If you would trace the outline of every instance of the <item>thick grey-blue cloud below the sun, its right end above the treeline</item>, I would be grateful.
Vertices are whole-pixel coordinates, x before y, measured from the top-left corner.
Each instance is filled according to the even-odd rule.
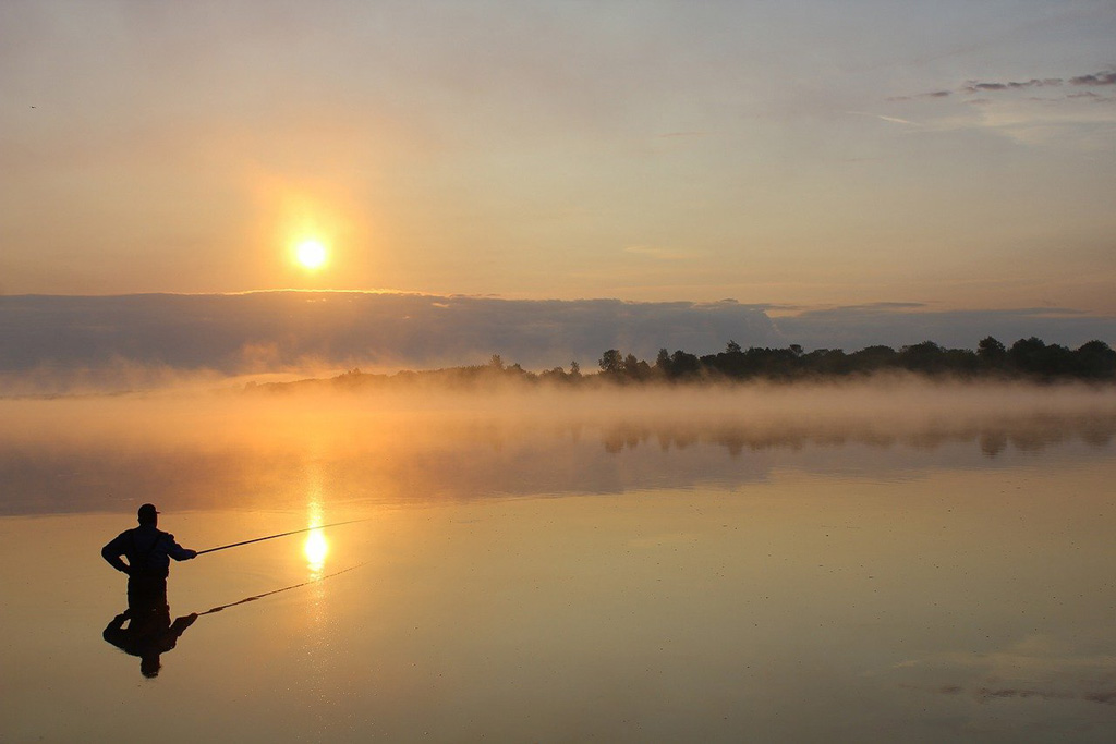
[[[591,368],[609,348],[654,358],[660,347],[719,351],[730,338],[780,340],[761,307],[737,302],[298,291],[0,298],[0,374],[121,360],[224,374],[429,368],[492,354],[528,368],[571,359]]]

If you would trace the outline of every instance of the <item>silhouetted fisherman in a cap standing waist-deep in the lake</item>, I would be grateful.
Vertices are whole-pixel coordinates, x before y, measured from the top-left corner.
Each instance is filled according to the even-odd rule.
[[[150,598],[166,597],[171,559],[186,561],[198,554],[156,526],[158,510],[154,504],[141,506],[136,519],[140,526],[121,532],[100,549],[109,566],[128,574],[128,607],[148,606]],[[127,563],[121,560],[122,555],[128,559]]]

